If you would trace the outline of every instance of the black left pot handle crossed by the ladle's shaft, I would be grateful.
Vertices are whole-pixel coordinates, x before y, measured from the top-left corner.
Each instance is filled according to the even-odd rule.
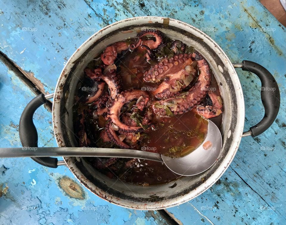
[[[32,99],[24,108],[19,122],[19,136],[23,147],[38,147],[38,132],[33,122],[33,115],[37,108],[52,98],[54,94],[39,94]],[[57,168],[59,165],[65,165],[64,161],[58,161],[52,157],[32,157],[35,162],[47,167]]]

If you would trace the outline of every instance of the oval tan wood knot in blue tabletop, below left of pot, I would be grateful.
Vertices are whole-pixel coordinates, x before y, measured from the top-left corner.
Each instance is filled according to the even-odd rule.
[[[84,199],[85,193],[83,188],[80,187],[75,181],[70,179],[67,176],[64,176],[59,179],[59,186],[63,189],[63,191],[71,198],[76,199]]]

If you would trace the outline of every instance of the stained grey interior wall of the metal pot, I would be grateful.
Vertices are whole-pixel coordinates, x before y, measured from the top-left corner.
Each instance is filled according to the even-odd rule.
[[[223,149],[218,161],[213,167],[200,175],[182,177],[170,184],[141,187],[109,179],[88,165],[84,158],[66,157],[65,160],[71,171],[86,187],[108,201],[116,204],[119,204],[118,202],[120,202],[121,205],[132,208],[141,207],[144,202],[147,202],[148,204],[153,204],[155,208],[155,205],[161,204],[163,208],[172,206],[172,204],[178,204],[178,200],[174,201],[174,199],[179,199],[180,196],[191,194],[192,191],[200,185],[204,185],[204,182],[217,170],[228,153],[233,135],[232,131],[237,125],[237,115],[235,113],[237,111],[237,105],[235,104],[237,99],[231,81],[231,74],[229,74],[226,69],[228,60],[226,58],[221,58],[221,55],[218,55],[217,51],[215,52],[214,49],[211,49],[205,42],[206,39],[198,38],[192,33],[177,27],[164,27],[159,23],[150,23],[121,27],[120,29],[109,33],[109,35],[95,41],[80,58],[73,62],[71,71],[66,75],[66,82],[62,89],[64,93],[63,96],[66,97],[62,98],[60,101],[60,114],[62,115],[61,132],[63,134],[62,138],[63,143],[65,143],[64,145],[77,145],[72,126],[72,105],[74,103],[74,92],[77,83],[79,83],[84,76],[84,68],[95,56],[102,52],[106,46],[125,38],[134,37],[137,32],[142,30],[142,28],[158,29],[170,38],[181,40],[187,45],[193,46],[209,62],[217,82],[220,85],[220,91],[224,102],[223,124],[221,128],[221,133],[223,135]],[[175,183],[176,185],[173,185]],[[207,188],[208,187],[205,187],[205,189]],[[190,199],[193,197],[195,196],[190,196]],[[131,206],[131,203],[134,203],[136,206]]]

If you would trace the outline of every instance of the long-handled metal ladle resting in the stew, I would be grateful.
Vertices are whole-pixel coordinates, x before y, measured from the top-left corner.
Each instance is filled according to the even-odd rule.
[[[208,143],[206,143],[208,142]],[[206,144],[205,144],[206,143]],[[205,145],[204,145],[205,144]],[[148,159],[164,163],[174,173],[193,176],[203,173],[217,161],[222,148],[222,137],[217,126],[209,120],[208,131],[203,143],[186,156],[170,158],[159,153],[117,148],[0,148],[0,158],[44,157],[44,156],[82,156],[82,157],[118,157]]]

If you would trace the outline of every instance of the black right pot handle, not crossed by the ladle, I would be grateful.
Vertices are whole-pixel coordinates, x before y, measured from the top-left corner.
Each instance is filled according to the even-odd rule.
[[[243,137],[249,135],[256,137],[271,126],[278,114],[280,107],[279,88],[271,73],[257,63],[243,60],[242,63],[233,63],[233,66],[234,68],[252,72],[261,80],[261,100],[265,110],[264,117],[255,126],[249,128],[249,131],[243,132],[242,135]]]

